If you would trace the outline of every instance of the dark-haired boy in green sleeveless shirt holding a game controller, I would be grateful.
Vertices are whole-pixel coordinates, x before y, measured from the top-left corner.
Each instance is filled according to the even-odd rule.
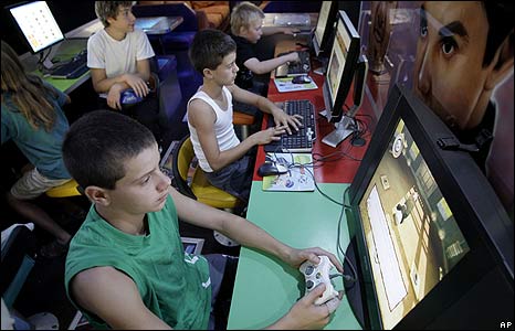
[[[294,267],[327,255],[343,270],[322,248],[286,246],[240,216],[181,195],[159,169],[153,134],[127,116],[108,110],[84,115],[66,135],[63,158],[93,202],[70,245],[65,287],[95,329],[212,328],[214,277],[204,257],[183,252],[178,217]],[[324,290],[324,285],[315,288],[271,327],[324,327],[329,309],[314,305]]]

